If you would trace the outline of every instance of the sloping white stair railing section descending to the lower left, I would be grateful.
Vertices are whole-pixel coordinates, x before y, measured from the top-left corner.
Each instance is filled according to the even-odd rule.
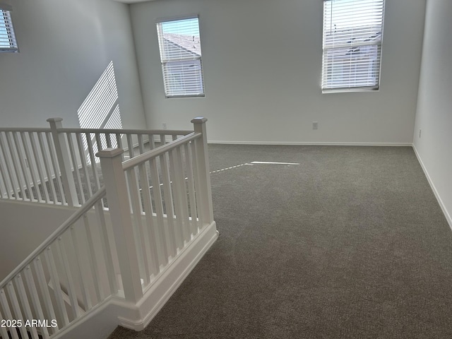
[[[117,293],[104,197],[105,187],[0,283],[1,338],[50,338]]]

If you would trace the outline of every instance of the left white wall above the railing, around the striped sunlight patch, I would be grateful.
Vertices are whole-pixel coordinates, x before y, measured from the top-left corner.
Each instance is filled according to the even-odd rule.
[[[78,126],[77,109],[113,61],[125,128],[145,126],[129,8],[112,0],[0,0],[20,53],[0,54],[0,126]]]

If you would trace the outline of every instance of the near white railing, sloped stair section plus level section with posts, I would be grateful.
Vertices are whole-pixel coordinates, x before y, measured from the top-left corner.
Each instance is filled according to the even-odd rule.
[[[59,338],[112,297],[143,304],[183,262],[215,227],[206,121],[193,119],[193,132],[126,161],[121,148],[97,153],[105,186],[0,283],[1,338]]]

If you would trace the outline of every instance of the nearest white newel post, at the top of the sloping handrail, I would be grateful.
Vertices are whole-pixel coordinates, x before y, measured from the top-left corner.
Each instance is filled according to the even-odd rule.
[[[129,193],[124,169],[122,169],[122,153],[124,150],[120,148],[105,148],[96,156],[100,157],[100,166],[107,190],[108,209],[112,218],[124,297],[127,301],[136,304],[143,297],[143,290],[141,289],[136,244],[133,239]]]

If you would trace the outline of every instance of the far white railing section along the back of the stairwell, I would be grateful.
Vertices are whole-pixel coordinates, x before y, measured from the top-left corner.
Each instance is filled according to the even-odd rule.
[[[61,118],[49,129],[0,129],[0,198],[81,206],[102,185],[97,151],[126,150],[134,157],[190,131],[65,129]]]

